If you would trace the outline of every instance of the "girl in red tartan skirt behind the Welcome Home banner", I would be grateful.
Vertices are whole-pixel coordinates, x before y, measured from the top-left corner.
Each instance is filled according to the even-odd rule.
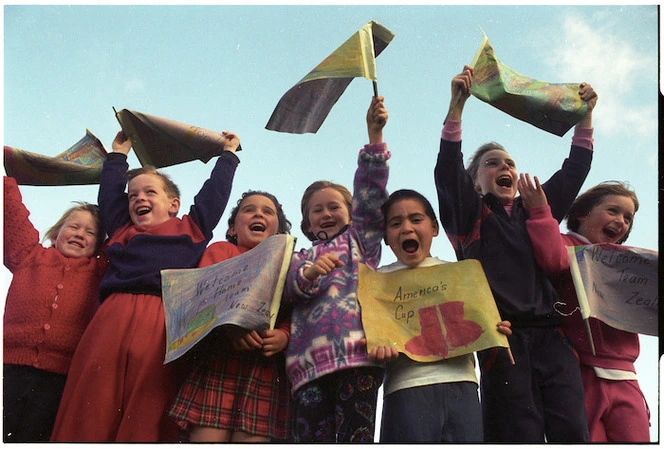
[[[291,223],[272,194],[248,191],[228,226],[228,242],[210,245],[199,266],[240,255],[272,235],[289,234]],[[281,353],[290,322],[284,318],[280,314],[276,328],[261,335],[235,326],[217,328],[193,349],[193,367],[169,412],[182,429],[190,429],[189,441],[290,437],[290,391]]]

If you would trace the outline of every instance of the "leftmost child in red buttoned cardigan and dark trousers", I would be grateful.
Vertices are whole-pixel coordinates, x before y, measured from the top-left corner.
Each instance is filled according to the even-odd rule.
[[[97,206],[77,203],[39,243],[14,178],[4,178],[4,263],[12,272],[3,327],[5,443],[47,442],[72,355],[97,310],[108,266]]]

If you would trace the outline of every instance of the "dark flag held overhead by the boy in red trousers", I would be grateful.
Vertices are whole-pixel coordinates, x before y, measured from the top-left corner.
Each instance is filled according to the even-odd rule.
[[[207,163],[224,150],[219,131],[129,109],[116,111],[115,116],[142,166],[161,168],[196,159]],[[241,150],[239,146],[236,151]]]

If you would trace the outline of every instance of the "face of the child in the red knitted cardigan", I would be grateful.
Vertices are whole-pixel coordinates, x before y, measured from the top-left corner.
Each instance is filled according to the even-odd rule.
[[[97,244],[97,224],[90,212],[69,214],[51,243],[66,257],[92,257]]]

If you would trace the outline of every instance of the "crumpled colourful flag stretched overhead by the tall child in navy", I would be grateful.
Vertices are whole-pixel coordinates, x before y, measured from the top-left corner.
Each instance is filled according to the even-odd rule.
[[[496,57],[486,34],[471,64],[470,93],[514,118],[563,136],[586,114],[580,83],[555,84],[528,78]]]

